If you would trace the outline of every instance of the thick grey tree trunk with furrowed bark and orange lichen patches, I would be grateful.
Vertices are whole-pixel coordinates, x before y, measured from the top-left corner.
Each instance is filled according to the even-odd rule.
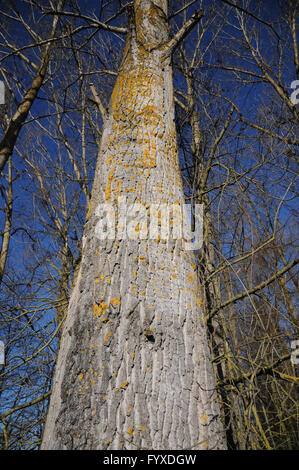
[[[184,202],[167,1],[135,0],[130,16],[42,449],[222,449],[192,252],[95,237],[99,203]]]

